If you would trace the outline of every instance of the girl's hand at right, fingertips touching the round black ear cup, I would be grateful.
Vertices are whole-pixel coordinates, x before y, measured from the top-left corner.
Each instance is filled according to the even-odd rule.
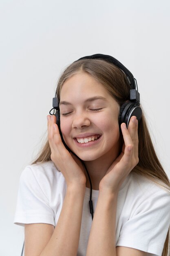
[[[126,124],[121,124],[121,131],[124,137],[124,144],[121,154],[108,168],[106,175],[99,183],[99,191],[118,193],[121,184],[124,182],[130,171],[138,164],[138,121],[132,116],[126,128]]]

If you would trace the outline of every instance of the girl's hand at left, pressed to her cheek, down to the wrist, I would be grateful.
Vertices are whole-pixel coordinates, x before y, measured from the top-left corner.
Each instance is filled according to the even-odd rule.
[[[47,120],[51,160],[64,175],[67,186],[86,186],[84,166],[75,155],[68,152],[62,143],[55,115],[48,115]]]

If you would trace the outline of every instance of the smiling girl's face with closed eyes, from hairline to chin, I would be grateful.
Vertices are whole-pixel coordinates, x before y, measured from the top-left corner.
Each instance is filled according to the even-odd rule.
[[[60,93],[60,127],[68,147],[82,160],[115,155],[119,148],[119,105],[86,73],[68,79]]]

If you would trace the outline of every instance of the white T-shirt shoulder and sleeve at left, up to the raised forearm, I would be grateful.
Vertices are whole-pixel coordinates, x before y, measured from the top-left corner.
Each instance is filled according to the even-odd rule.
[[[14,223],[55,225],[65,191],[64,176],[52,161],[26,166],[20,175]]]

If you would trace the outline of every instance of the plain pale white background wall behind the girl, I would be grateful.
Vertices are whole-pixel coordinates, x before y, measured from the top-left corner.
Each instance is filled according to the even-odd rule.
[[[170,1],[0,1],[0,255],[20,256],[19,177],[42,144],[57,79],[78,58],[108,54],[137,79],[170,177]]]

